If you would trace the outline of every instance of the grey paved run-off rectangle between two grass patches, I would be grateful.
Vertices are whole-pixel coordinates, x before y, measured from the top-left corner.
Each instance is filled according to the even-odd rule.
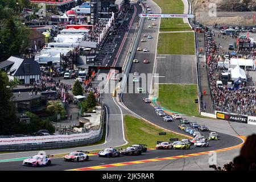
[[[197,84],[194,55],[158,55],[156,60],[160,84]]]

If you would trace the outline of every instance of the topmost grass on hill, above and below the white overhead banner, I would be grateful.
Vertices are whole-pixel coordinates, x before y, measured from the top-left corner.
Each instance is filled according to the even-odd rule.
[[[153,0],[162,10],[162,14],[183,14],[184,5],[181,0]],[[183,23],[182,18],[162,18],[160,31],[191,30],[188,23]]]

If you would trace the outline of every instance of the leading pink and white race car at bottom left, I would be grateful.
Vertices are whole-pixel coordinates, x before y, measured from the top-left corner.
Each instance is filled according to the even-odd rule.
[[[53,155],[51,155],[53,157]],[[49,158],[50,155],[35,155],[31,158],[23,160],[23,166],[50,166],[52,164],[52,160]]]

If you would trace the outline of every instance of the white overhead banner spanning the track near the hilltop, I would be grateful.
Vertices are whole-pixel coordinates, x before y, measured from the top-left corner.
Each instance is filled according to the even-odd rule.
[[[140,18],[195,18],[194,14],[139,14]]]

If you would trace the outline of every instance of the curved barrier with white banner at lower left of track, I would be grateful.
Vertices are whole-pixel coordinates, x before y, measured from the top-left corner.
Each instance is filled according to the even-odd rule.
[[[64,147],[76,147],[76,146],[82,146],[85,144],[91,144],[98,142],[98,140],[101,140],[102,135],[104,134],[104,123],[105,123],[105,104],[102,102],[102,110],[101,110],[101,122],[100,122],[100,129],[98,129],[98,134],[92,135],[89,138],[84,139],[77,139],[77,140],[70,140],[70,141],[60,141],[60,142],[47,142],[47,143],[32,143],[32,144],[0,144],[0,151],[26,151],[26,150],[42,150],[42,149],[49,149],[49,148],[64,148]],[[79,135],[79,134],[75,134]],[[82,134],[80,134],[82,135]],[[56,136],[56,135],[53,135]],[[68,135],[67,135],[68,136]],[[46,136],[51,137],[51,136]],[[0,138],[3,141],[7,138]],[[8,139],[14,139],[14,138],[8,138]],[[16,138],[16,139],[22,139],[22,138]]]

